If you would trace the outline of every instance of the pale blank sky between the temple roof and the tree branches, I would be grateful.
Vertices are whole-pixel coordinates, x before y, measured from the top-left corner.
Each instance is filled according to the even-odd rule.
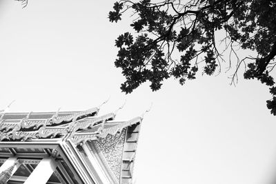
[[[170,79],[158,92],[145,83],[121,93],[114,45],[129,22],[110,23],[112,6],[30,0],[22,9],[0,0],[0,109],[15,99],[12,112],[86,110],[110,96],[100,114],[126,99],[117,119],[132,119],[153,103],[139,136],[137,184],[274,184],[276,121],[266,108],[268,88],[242,75],[234,87],[231,73],[222,72],[184,86]]]

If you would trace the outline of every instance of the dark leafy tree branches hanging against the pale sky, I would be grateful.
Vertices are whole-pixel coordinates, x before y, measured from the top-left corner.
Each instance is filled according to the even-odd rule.
[[[276,115],[276,86],[271,76],[276,65],[275,0],[121,0],[113,8],[109,20],[117,22],[130,12],[130,26],[135,30],[135,37],[126,32],[115,44],[119,48],[115,66],[126,76],[123,92],[130,93],[146,81],[153,91],[159,90],[169,77],[183,85],[195,79],[197,72],[219,73],[223,61],[234,68],[231,83],[237,82],[238,69],[244,65],[245,79],[270,86],[273,99],[267,107]],[[219,46],[218,35],[223,35]],[[239,58],[235,47],[256,54]],[[227,60],[226,52],[230,53]],[[232,55],[237,63],[231,61]]]

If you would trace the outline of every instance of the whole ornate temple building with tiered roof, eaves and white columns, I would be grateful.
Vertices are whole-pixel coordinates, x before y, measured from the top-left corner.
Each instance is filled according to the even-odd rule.
[[[132,183],[143,116],[98,112],[0,112],[0,183]]]

